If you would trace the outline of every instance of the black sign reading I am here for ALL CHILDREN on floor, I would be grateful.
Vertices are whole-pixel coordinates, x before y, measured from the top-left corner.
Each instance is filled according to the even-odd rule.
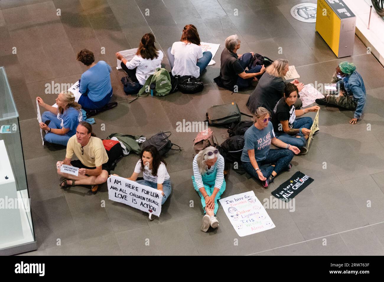
[[[310,185],[313,179],[308,175],[298,171],[292,177],[281,184],[276,190],[272,191],[272,195],[283,201],[289,201],[295,198],[305,187]]]

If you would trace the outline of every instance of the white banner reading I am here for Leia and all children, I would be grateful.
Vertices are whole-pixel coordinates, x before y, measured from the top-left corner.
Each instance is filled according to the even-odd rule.
[[[162,193],[152,187],[111,175],[107,180],[109,200],[160,216]]]

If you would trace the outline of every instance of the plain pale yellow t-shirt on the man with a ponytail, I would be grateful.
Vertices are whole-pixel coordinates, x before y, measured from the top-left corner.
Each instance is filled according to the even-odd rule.
[[[83,154],[81,154],[83,151]],[[67,143],[66,158],[71,159],[73,154],[78,157],[84,166],[96,167],[108,162],[107,151],[105,151],[103,141],[100,138],[93,137],[89,139],[88,144],[81,150],[81,144],[77,141],[76,135],[73,135]]]

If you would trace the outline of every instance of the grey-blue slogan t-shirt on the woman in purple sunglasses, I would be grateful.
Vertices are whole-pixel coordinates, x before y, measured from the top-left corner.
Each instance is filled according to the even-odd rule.
[[[263,161],[269,152],[272,138],[275,137],[273,126],[271,122],[268,122],[268,126],[262,130],[256,128],[255,125],[245,131],[244,134],[244,148],[241,155],[242,162],[250,162],[248,156],[248,150],[255,150],[256,161]]]

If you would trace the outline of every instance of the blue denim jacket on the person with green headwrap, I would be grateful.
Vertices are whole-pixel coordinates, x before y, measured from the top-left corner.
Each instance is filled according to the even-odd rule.
[[[360,118],[365,101],[367,100],[364,81],[362,80],[361,75],[357,71],[353,71],[352,74],[339,80],[338,84],[343,84],[344,89],[347,92],[346,95],[353,96],[353,100],[357,103],[353,117]]]

